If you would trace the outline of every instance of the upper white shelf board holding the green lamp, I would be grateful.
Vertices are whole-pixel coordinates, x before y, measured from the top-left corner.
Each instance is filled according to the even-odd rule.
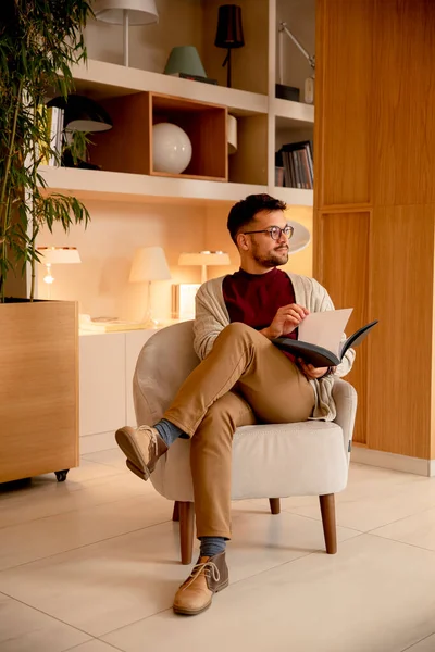
[[[76,90],[96,100],[151,90],[228,106],[235,115],[268,113],[268,96],[246,90],[181,79],[104,61],[88,60],[86,64],[73,66],[72,72]]]

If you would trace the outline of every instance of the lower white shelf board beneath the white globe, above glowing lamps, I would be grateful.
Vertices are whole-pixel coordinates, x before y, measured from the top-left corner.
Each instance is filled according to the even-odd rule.
[[[162,200],[177,203],[238,201],[251,193],[268,192],[266,186],[178,179],[99,170],[50,167],[39,172],[50,191],[71,193],[80,200],[152,202]],[[300,190],[299,190],[300,192]]]

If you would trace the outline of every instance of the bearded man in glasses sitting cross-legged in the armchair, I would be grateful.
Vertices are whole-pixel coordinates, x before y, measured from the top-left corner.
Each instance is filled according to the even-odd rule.
[[[314,279],[287,274],[297,223],[284,202],[251,195],[228,215],[240,255],[235,274],[204,283],[197,294],[194,347],[202,361],[182,385],[163,418],[151,426],[124,427],[116,441],[128,468],[147,480],[159,457],[178,438],[191,438],[191,475],[200,555],[179,587],[174,611],[196,615],[228,585],[225,544],[231,538],[233,435],[258,422],[309,418],[334,421],[334,378],[351,368],[349,349],[334,368],[314,368],[277,349],[272,339],[297,338],[310,312],[334,310]]]

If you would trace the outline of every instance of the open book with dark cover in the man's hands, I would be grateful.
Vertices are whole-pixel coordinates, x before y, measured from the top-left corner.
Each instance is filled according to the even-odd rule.
[[[314,367],[338,366],[346,351],[362,342],[377,324],[377,321],[371,322],[341,343],[352,310],[348,308],[311,313],[299,324],[299,339],[277,337],[272,341],[279,349],[293,353],[296,358],[302,358],[307,364]]]

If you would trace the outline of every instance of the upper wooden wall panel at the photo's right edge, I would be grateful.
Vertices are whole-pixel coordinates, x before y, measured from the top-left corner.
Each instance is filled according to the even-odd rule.
[[[435,2],[375,0],[373,28],[373,202],[434,203]]]

